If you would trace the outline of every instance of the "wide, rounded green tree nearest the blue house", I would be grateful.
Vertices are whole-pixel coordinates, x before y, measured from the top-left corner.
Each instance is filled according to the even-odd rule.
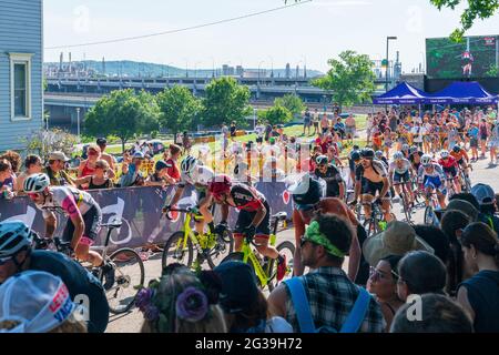
[[[84,119],[85,133],[90,135],[115,135],[124,144],[135,134],[157,130],[160,108],[155,98],[133,89],[115,90],[101,98]]]

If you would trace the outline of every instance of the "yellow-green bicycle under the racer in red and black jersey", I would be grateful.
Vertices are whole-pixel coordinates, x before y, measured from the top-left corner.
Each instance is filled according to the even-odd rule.
[[[273,231],[269,236],[271,245],[275,246],[277,241],[277,227],[279,225],[279,222],[283,222],[284,225],[286,224],[287,220],[287,213],[286,212],[279,212],[272,216],[272,223],[273,223]],[[244,237],[243,241],[243,248],[241,252],[235,252],[230,254],[227,257],[225,257],[222,263],[226,261],[242,261],[244,263],[247,263],[253,272],[256,275],[256,280],[258,283],[258,286],[264,290],[265,287],[268,287],[268,291],[272,292],[275,287],[278,285],[277,281],[277,260],[269,258],[267,256],[262,257],[259,253],[256,251],[256,248],[253,248],[258,246],[253,239]],[[295,245],[289,242],[285,241],[277,245],[277,252],[281,255],[285,255],[287,265],[286,265],[286,272],[284,278],[288,278],[293,276],[293,257],[295,255]],[[283,280],[284,280],[283,278]]]

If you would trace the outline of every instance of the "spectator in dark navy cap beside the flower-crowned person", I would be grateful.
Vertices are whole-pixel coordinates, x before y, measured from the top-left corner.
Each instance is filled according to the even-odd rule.
[[[248,264],[227,261],[214,268],[222,281],[220,305],[230,333],[293,333],[283,317],[268,316],[268,305]]]

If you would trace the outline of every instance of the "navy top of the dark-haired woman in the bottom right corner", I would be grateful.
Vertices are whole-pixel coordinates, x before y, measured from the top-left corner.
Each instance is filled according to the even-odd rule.
[[[468,291],[476,333],[499,333],[499,272],[483,270],[459,285]]]

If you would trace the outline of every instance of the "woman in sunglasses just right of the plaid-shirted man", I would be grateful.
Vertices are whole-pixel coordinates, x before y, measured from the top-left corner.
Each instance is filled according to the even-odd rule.
[[[397,310],[404,305],[397,294],[397,266],[400,260],[401,256],[390,255],[381,258],[376,267],[370,266],[369,270],[367,291],[376,295],[385,317],[386,332],[389,331]]]

